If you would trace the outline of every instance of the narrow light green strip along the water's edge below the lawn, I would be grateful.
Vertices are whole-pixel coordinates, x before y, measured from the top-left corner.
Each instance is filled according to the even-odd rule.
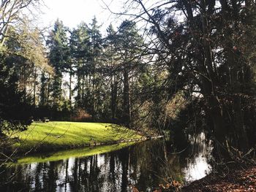
[[[32,164],[32,163],[44,163],[48,161],[60,161],[70,157],[86,157],[95,154],[108,153],[110,151],[119,150],[123,147],[132,145],[134,142],[120,143],[116,145],[105,145],[97,147],[85,147],[83,149],[75,150],[64,150],[56,153],[51,153],[50,155],[33,155],[25,158],[18,158],[17,164]],[[15,165],[15,164],[14,164]]]

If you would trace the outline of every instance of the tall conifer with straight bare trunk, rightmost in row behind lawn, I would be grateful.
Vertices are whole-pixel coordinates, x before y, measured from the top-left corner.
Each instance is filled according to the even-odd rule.
[[[117,52],[120,57],[121,70],[123,74],[123,120],[126,126],[131,123],[131,98],[130,81],[132,74],[141,63],[143,51],[143,39],[138,33],[136,24],[130,20],[124,20],[118,28]]]

